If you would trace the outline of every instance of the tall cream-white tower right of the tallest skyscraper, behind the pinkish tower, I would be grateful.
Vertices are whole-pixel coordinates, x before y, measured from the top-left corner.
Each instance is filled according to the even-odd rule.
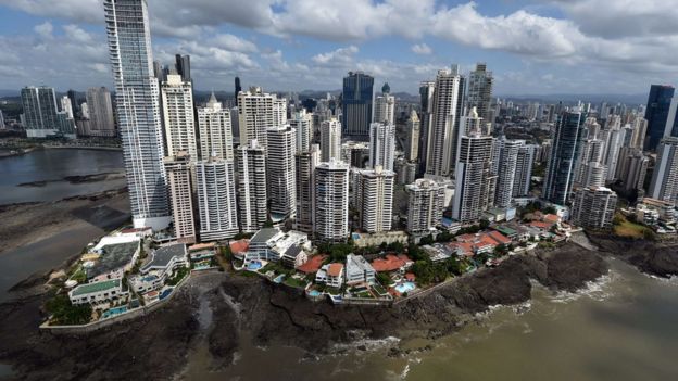
[[[184,81],[177,74],[170,74],[167,80],[162,82],[160,93],[167,155],[174,156],[179,151],[186,151],[192,161],[197,161],[198,147],[191,84]]]

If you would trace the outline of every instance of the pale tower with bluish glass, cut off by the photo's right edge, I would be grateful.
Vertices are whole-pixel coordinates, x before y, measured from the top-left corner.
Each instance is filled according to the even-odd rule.
[[[660,143],[648,196],[678,203],[678,138],[668,137]]]

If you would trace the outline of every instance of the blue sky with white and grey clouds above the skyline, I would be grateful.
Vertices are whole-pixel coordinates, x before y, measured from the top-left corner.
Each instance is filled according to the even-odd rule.
[[[495,94],[639,94],[678,82],[678,0],[148,0],[153,56],[198,90],[416,93],[486,62]],[[112,87],[102,0],[0,0],[0,89]]]

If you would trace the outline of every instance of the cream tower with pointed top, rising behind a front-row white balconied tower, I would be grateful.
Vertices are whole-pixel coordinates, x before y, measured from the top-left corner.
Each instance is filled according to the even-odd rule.
[[[198,107],[198,128],[200,129],[200,157],[234,161],[233,129],[229,110],[222,109],[214,92],[204,107]]]

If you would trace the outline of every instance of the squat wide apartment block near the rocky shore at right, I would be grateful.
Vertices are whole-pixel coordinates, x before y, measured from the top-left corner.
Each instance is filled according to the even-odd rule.
[[[581,188],[575,192],[572,220],[585,228],[608,228],[612,226],[617,193],[605,187]]]

